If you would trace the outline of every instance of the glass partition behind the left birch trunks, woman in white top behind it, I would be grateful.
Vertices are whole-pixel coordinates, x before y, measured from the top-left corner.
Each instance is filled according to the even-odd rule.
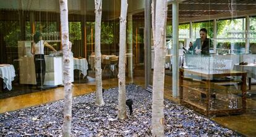
[[[10,67],[13,76],[7,88],[0,78],[0,113],[64,98],[59,1],[10,2],[1,1],[0,6],[0,68]],[[95,91],[94,4],[90,0],[69,1],[68,5],[73,96]],[[131,4],[127,15],[126,77],[127,83],[143,85],[143,6],[135,7],[138,10]],[[120,8],[119,1],[103,1],[101,68],[105,89],[118,86]]]

